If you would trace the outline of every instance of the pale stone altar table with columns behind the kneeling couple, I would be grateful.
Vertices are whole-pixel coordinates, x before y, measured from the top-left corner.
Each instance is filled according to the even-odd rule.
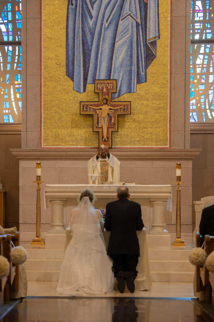
[[[51,229],[47,232],[46,243],[57,244],[60,235],[70,220],[72,209],[77,206],[77,197],[86,188],[93,190],[97,197],[94,207],[105,209],[108,202],[116,200],[116,189],[121,184],[113,185],[46,185],[44,192],[45,208],[52,207]],[[149,245],[169,246],[171,236],[165,229],[165,212],[171,209],[171,185],[134,185],[127,184],[130,199],[141,204],[142,219],[147,231]],[[53,235],[57,235],[53,236]],[[63,237],[63,236],[61,236]]]

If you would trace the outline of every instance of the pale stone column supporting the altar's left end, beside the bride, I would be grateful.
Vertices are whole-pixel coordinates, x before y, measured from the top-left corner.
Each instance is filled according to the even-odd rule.
[[[65,200],[50,200],[52,205],[52,223],[48,234],[65,234],[63,205]]]

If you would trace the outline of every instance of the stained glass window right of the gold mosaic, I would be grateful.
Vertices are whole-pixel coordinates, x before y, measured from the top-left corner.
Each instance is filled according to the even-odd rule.
[[[191,1],[190,122],[214,123],[214,3]]]

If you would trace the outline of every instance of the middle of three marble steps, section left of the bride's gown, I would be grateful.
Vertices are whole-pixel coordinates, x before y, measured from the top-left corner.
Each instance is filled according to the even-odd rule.
[[[62,259],[28,259],[25,263],[26,270],[60,270]]]

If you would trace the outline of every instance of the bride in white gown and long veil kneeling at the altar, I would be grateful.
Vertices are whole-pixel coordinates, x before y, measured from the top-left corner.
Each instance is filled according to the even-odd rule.
[[[64,253],[57,292],[67,296],[104,294],[112,290],[114,274],[106,253],[102,214],[95,209],[93,192],[81,192],[69,227],[72,239]]]

